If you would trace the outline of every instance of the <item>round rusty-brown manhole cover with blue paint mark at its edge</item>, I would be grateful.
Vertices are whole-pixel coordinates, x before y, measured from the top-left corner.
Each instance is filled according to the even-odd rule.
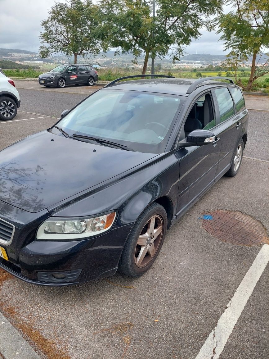
[[[263,225],[241,212],[212,211],[203,215],[202,224],[212,236],[244,246],[268,243]]]

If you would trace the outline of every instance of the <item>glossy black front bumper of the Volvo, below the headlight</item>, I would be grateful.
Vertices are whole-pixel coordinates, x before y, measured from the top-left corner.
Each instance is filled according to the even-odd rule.
[[[132,225],[110,230],[98,237],[77,241],[32,241],[12,259],[13,242],[5,248],[9,261],[0,258],[0,267],[28,283],[70,285],[113,275]],[[53,275],[64,274],[65,279]],[[73,278],[75,278],[73,280]]]

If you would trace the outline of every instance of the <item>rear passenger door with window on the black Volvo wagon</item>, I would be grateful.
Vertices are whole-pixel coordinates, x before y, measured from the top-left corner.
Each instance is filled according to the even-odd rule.
[[[214,97],[222,137],[220,159],[216,171],[216,177],[218,177],[230,168],[241,134],[242,121],[241,116],[236,113],[235,103],[228,87],[215,88]]]

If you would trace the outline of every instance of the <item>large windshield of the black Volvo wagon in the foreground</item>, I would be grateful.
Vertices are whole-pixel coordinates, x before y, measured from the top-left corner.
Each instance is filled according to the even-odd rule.
[[[145,153],[162,153],[184,97],[102,89],[57,123],[69,135],[106,139]]]

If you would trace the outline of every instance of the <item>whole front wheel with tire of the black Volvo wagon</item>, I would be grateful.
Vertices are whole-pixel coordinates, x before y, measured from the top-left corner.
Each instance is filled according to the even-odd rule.
[[[166,211],[160,204],[154,202],[141,213],[133,225],[122,251],[119,271],[130,277],[139,277],[144,274],[157,258],[166,230]],[[154,233],[156,233],[155,236]],[[145,243],[145,245],[139,243]]]

